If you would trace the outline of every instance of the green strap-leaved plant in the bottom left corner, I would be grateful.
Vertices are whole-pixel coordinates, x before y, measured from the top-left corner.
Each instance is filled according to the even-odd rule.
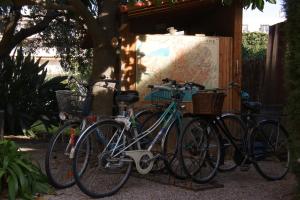
[[[10,200],[34,199],[37,193],[47,193],[50,189],[41,169],[8,140],[0,141],[0,193],[6,192],[5,189]]]

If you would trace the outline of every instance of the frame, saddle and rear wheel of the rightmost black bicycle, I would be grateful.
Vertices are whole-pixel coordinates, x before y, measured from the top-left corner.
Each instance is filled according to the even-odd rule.
[[[231,83],[231,87],[239,87]],[[253,164],[267,180],[280,180],[288,172],[290,149],[288,132],[280,120],[259,119],[261,103],[250,101],[241,90],[244,112],[225,113],[215,120],[222,133],[220,171],[231,171],[237,166],[247,171]]]

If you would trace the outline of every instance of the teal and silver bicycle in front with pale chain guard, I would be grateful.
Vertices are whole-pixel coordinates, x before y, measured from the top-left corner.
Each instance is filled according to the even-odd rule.
[[[150,128],[142,133],[138,132],[132,109],[132,105],[139,99],[138,94],[124,91],[116,99],[126,112],[110,120],[96,122],[81,134],[75,146],[73,172],[77,185],[85,194],[94,198],[115,194],[128,180],[133,163],[138,173],[147,174],[152,170],[154,161],[161,158],[169,173],[176,173],[172,171],[171,164],[177,154],[176,138],[181,132],[182,118],[179,107],[182,91],[186,87],[173,82],[171,86],[152,85],[150,88],[172,93],[171,103]],[[161,124],[162,128],[155,133],[154,139],[142,147],[142,139]],[[175,134],[172,133],[173,130]],[[95,139],[97,131],[105,135],[106,142]],[[174,137],[172,140],[171,136]],[[85,165],[82,158],[86,154],[84,147],[89,141],[92,141],[90,159]],[[151,150],[158,141],[161,141],[161,153],[154,155]],[[173,156],[168,156],[170,154]]]

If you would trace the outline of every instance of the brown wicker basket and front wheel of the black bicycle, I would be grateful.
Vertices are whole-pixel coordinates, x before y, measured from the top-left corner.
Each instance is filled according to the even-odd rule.
[[[207,183],[217,174],[221,161],[221,138],[215,118],[221,112],[225,95],[219,90],[201,90],[193,95],[192,119],[179,141],[179,157],[187,177]]]

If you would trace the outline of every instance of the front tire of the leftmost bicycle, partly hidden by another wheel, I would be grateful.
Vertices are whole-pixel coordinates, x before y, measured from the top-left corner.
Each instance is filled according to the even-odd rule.
[[[47,151],[46,151],[46,156],[45,156],[45,171],[46,175],[49,178],[49,182],[52,186],[58,189],[63,189],[67,187],[71,187],[75,184],[75,179],[73,177],[73,172],[72,172],[72,164],[66,165],[66,163],[71,162],[71,158],[68,155],[65,155],[66,152],[64,151],[67,147],[67,144],[58,144],[60,138],[62,142],[69,142],[69,136],[66,135],[69,129],[76,128],[80,129],[80,124],[81,121],[70,121],[65,123],[62,127],[60,127],[56,133],[52,136]],[[63,137],[66,136],[66,139],[63,139]],[[55,152],[55,147],[57,145],[60,145],[59,150],[62,150],[62,152],[58,152],[57,155],[54,154]],[[57,160],[58,156],[61,156],[62,158],[62,163],[56,163],[53,164],[55,160]],[[58,159],[58,161],[61,161]],[[63,172],[65,171],[64,168],[67,167],[67,172],[66,175],[63,175]],[[70,168],[69,168],[70,167]],[[57,171],[57,174],[54,173],[54,171]],[[62,180],[64,178],[67,178],[67,180]]]

